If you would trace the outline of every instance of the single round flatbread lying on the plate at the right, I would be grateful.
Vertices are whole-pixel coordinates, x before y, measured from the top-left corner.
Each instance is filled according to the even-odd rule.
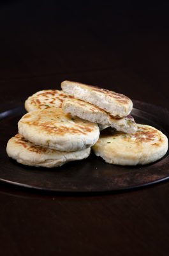
[[[110,164],[149,164],[165,156],[168,139],[156,128],[138,124],[134,135],[106,129],[92,149]]]

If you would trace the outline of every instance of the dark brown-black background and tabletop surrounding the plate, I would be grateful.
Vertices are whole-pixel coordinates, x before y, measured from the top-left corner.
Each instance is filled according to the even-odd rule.
[[[169,108],[166,1],[1,1],[1,104],[70,79]],[[98,196],[0,184],[2,255],[168,255],[168,182]]]

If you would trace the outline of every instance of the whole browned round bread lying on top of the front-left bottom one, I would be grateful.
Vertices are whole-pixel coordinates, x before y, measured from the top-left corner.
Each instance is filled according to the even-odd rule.
[[[18,132],[36,145],[66,152],[91,147],[99,138],[97,124],[71,118],[61,108],[27,113],[18,122]]]

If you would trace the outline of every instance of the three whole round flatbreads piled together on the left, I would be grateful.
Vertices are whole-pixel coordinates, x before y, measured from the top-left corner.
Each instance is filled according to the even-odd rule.
[[[18,134],[8,141],[8,156],[18,163],[44,167],[89,156],[99,127],[65,114],[61,103],[66,97],[58,90],[44,90],[26,100],[29,113],[18,122]]]

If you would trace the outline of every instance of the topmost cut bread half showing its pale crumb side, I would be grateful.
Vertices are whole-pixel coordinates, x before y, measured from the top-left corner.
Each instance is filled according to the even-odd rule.
[[[133,108],[133,102],[125,95],[99,87],[71,81],[63,81],[61,87],[64,93],[89,102],[112,116],[127,116]]]

